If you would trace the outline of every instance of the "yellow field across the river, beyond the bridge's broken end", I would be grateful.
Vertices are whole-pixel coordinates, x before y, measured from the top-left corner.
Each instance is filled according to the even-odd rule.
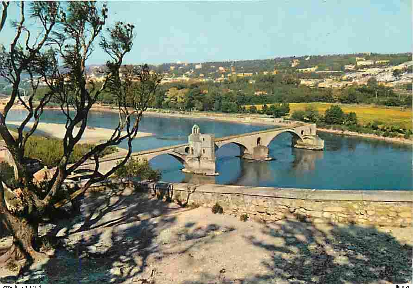
[[[267,104],[269,106],[270,104]],[[324,114],[331,103],[290,103],[290,115],[296,110],[304,110],[308,106],[314,107],[320,114]],[[251,105],[246,105],[250,107]],[[384,107],[377,105],[364,104],[339,104],[342,110],[346,113],[355,112],[358,121],[361,124],[367,124],[374,120],[382,121],[385,125],[400,126],[404,128],[412,128],[412,110],[410,108],[404,110],[401,107]],[[256,105],[256,108],[261,110],[262,105]]]

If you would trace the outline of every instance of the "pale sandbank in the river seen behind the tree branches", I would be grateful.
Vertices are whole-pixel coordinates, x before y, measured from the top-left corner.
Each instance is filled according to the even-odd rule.
[[[7,126],[10,127],[17,127],[21,124],[20,121],[7,121]],[[33,126],[32,122],[29,122],[26,127],[31,128]],[[74,128],[74,134],[78,133],[79,128]],[[81,142],[88,142],[88,143],[95,143],[100,142],[102,140],[107,140],[110,138],[114,130],[109,128],[86,128],[83,136],[81,138]],[[48,124],[48,123],[39,123],[36,129],[36,135],[43,135],[45,137],[53,137],[63,139],[64,134],[66,132],[66,128],[64,124]],[[125,132],[126,133],[126,132]],[[124,135],[125,133],[122,133]],[[142,131],[138,132],[136,138],[143,138],[147,136],[151,136],[152,133],[144,133]]]

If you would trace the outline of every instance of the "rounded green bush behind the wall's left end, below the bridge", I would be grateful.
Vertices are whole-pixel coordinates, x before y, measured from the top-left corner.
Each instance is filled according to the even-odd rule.
[[[160,170],[153,170],[147,160],[130,158],[128,162],[116,170],[117,177],[138,177],[157,182],[162,177]]]

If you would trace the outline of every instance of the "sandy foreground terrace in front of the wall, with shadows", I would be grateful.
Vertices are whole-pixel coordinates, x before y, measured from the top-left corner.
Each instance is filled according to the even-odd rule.
[[[53,258],[33,263],[19,278],[2,264],[0,283],[411,282],[411,228],[244,222],[131,189],[88,193],[81,212],[41,227],[52,236]],[[0,239],[0,251],[10,243],[9,237]]]

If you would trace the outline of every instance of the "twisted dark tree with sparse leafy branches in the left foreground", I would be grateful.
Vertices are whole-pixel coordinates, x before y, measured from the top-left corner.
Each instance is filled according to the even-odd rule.
[[[30,31],[24,26],[24,2],[21,2],[20,8],[20,22],[15,23],[16,37],[9,51],[0,51],[0,76],[12,84],[11,98],[0,112],[0,135],[16,163],[18,183],[17,188],[0,184],[2,221],[13,235],[13,244],[0,257],[0,263],[7,259],[41,257],[36,251],[39,222],[61,200],[64,181],[76,168],[88,159],[95,160],[94,173],[85,185],[72,192],[72,196],[84,193],[92,184],[102,181],[128,161],[142,113],[160,83],[159,76],[152,74],[147,65],[123,68],[123,58],[133,45],[134,26],[118,22],[104,33],[108,15],[105,4],[98,7],[92,1],[32,2],[30,14],[43,26],[43,33],[35,40],[31,39]],[[22,34],[26,36],[24,42]],[[97,84],[86,75],[86,61],[99,37],[102,37],[99,44],[110,60],[106,64],[104,81],[97,88]],[[22,73],[27,73],[30,78],[32,93],[28,100],[22,99],[19,94]],[[34,105],[33,98],[40,80],[47,84],[49,91]],[[90,149],[78,161],[69,163],[74,147],[85,131],[90,109],[103,91],[109,91],[116,97],[119,123],[107,141]],[[6,118],[16,99],[20,100],[28,115],[18,127],[18,136],[14,137],[6,126]],[[59,103],[66,118],[63,155],[48,185],[40,188],[24,165],[24,149],[50,101]],[[33,126],[24,131],[32,118]],[[77,133],[75,126],[80,127]],[[128,143],[128,154],[123,161],[105,175],[98,174],[102,151],[123,141]]]

